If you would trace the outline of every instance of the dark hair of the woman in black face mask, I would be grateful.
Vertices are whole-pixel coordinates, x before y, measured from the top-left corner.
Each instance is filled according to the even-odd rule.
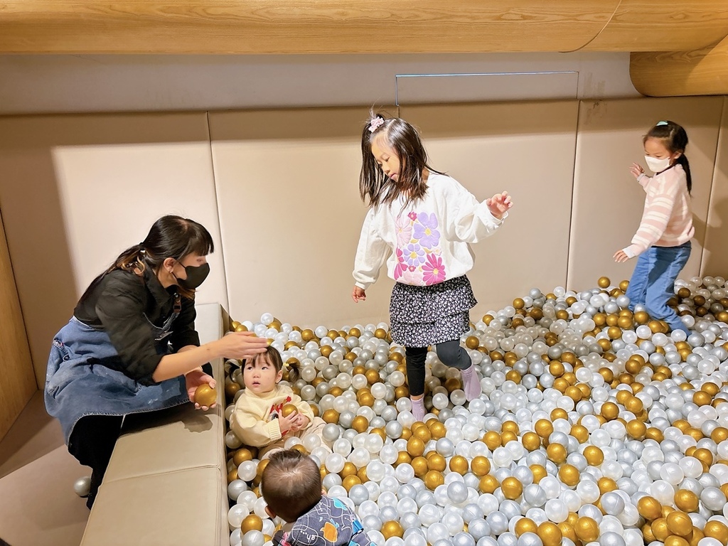
[[[207,256],[214,250],[213,237],[201,223],[181,216],[162,216],[151,226],[145,240],[124,250],[105,272],[93,280],[81,296],[81,301],[90,296],[106,274],[116,269],[143,273],[150,267],[157,272],[166,258],[180,261],[191,253]],[[194,290],[186,290],[180,286],[178,292],[186,298],[194,299]]]

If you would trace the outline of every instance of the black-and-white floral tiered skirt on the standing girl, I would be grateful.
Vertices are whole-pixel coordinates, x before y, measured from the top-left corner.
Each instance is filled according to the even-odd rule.
[[[465,275],[429,286],[395,282],[389,300],[392,341],[428,347],[459,339],[470,329],[470,309],[477,303]]]

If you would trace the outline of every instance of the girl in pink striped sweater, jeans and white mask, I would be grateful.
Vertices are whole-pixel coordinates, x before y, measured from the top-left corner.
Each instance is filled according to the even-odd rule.
[[[687,132],[675,122],[658,122],[642,139],[645,161],[653,177],[641,165],[630,171],[646,192],[644,212],[632,244],[614,253],[614,261],[639,256],[627,296],[630,310],[644,305],[654,318],[665,320],[673,330],[690,331],[668,306],[675,280],[690,257],[690,240],[695,233],[690,210],[692,177],[685,157]]]

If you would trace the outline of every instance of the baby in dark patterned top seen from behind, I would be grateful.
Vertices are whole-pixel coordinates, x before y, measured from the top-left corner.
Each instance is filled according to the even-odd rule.
[[[311,457],[277,451],[263,471],[261,494],[272,518],[293,523],[273,537],[274,546],[370,546],[355,513],[321,489],[321,472]]]

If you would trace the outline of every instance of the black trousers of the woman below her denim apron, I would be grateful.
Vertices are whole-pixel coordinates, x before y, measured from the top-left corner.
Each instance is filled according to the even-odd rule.
[[[91,489],[86,505],[90,508],[106,473],[116,440],[122,431],[123,416],[87,415],[79,419],[68,439],[68,453],[91,467]]]

